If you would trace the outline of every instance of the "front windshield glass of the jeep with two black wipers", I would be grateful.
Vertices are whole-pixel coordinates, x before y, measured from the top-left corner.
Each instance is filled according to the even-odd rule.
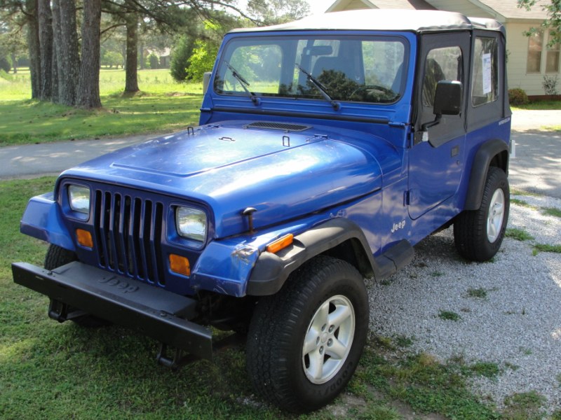
[[[398,37],[234,38],[215,77],[218,94],[396,102],[403,93],[405,44]]]

